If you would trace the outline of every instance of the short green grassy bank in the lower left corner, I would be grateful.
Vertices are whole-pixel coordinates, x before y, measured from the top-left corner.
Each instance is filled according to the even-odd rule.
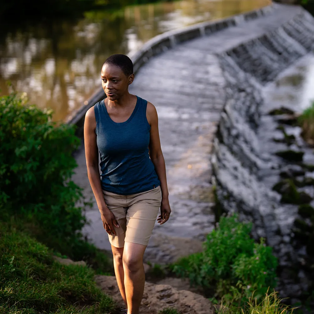
[[[114,302],[93,281],[95,272],[55,262],[48,248],[0,225],[0,313],[103,314]]]

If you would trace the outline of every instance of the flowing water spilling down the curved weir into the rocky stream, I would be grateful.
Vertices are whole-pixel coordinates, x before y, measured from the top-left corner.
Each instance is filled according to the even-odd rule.
[[[292,303],[313,289],[314,224],[298,204],[314,204],[314,155],[295,117],[270,111],[300,114],[311,106],[313,32],[313,17],[301,14],[221,56],[227,101],[212,158],[221,208],[252,221],[253,236],[273,247],[278,289]],[[286,185],[274,189],[278,182]]]

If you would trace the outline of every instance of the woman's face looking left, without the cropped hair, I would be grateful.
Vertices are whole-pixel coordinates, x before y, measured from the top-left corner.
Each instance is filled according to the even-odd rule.
[[[133,74],[126,76],[116,65],[104,64],[101,68],[101,85],[109,100],[117,100],[127,92],[133,78]]]

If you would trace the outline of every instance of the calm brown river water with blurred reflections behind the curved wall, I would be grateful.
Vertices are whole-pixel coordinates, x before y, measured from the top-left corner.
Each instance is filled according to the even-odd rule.
[[[129,53],[167,30],[250,11],[268,0],[184,0],[86,12],[79,20],[26,24],[0,34],[0,89],[10,80],[30,101],[66,120],[100,86],[112,53]],[[13,26],[12,26],[13,27]]]

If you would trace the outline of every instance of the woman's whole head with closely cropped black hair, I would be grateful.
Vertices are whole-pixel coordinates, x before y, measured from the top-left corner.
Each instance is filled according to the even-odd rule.
[[[133,79],[133,63],[126,55],[110,56],[101,68],[102,88],[110,100],[117,100],[126,93]]]

